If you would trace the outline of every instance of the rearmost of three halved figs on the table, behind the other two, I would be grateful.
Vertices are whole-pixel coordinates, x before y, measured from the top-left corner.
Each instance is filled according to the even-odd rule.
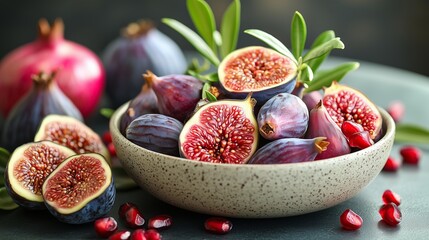
[[[69,147],[76,153],[99,153],[110,162],[109,151],[100,136],[83,122],[64,115],[43,118],[34,141],[49,140]]]

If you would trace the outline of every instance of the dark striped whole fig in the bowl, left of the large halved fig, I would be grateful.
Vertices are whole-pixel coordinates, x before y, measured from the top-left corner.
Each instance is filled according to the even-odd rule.
[[[162,114],[145,114],[130,123],[126,138],[146,149],[179,156],[179,135],[183,124]]]

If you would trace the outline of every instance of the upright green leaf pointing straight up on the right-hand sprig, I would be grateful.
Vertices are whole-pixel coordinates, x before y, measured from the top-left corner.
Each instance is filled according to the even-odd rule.
[[[298,11],[295,12],[291,23],[292,52],[296,59],[302,55],[307,40],[307,25],[304,17]]]

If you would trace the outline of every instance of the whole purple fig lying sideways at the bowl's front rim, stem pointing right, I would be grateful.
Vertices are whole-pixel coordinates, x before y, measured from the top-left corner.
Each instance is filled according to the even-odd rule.
[[[325,137],[313,139],[282,138],[260,148],[248,164],[278,164],[313,161],[325,151],[329,142]]]

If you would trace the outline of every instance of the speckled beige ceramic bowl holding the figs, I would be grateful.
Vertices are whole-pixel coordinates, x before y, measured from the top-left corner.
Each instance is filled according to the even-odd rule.
[[[125,171],[144,190],[174,206],[240,218],[300,215],[341,203],[367,186],[383,168],[395,123],[381,110],[385,135],[373,146],[322,161],[272,164],[213,164],[146,150],[119,132],[120,107],[110,131]]]

